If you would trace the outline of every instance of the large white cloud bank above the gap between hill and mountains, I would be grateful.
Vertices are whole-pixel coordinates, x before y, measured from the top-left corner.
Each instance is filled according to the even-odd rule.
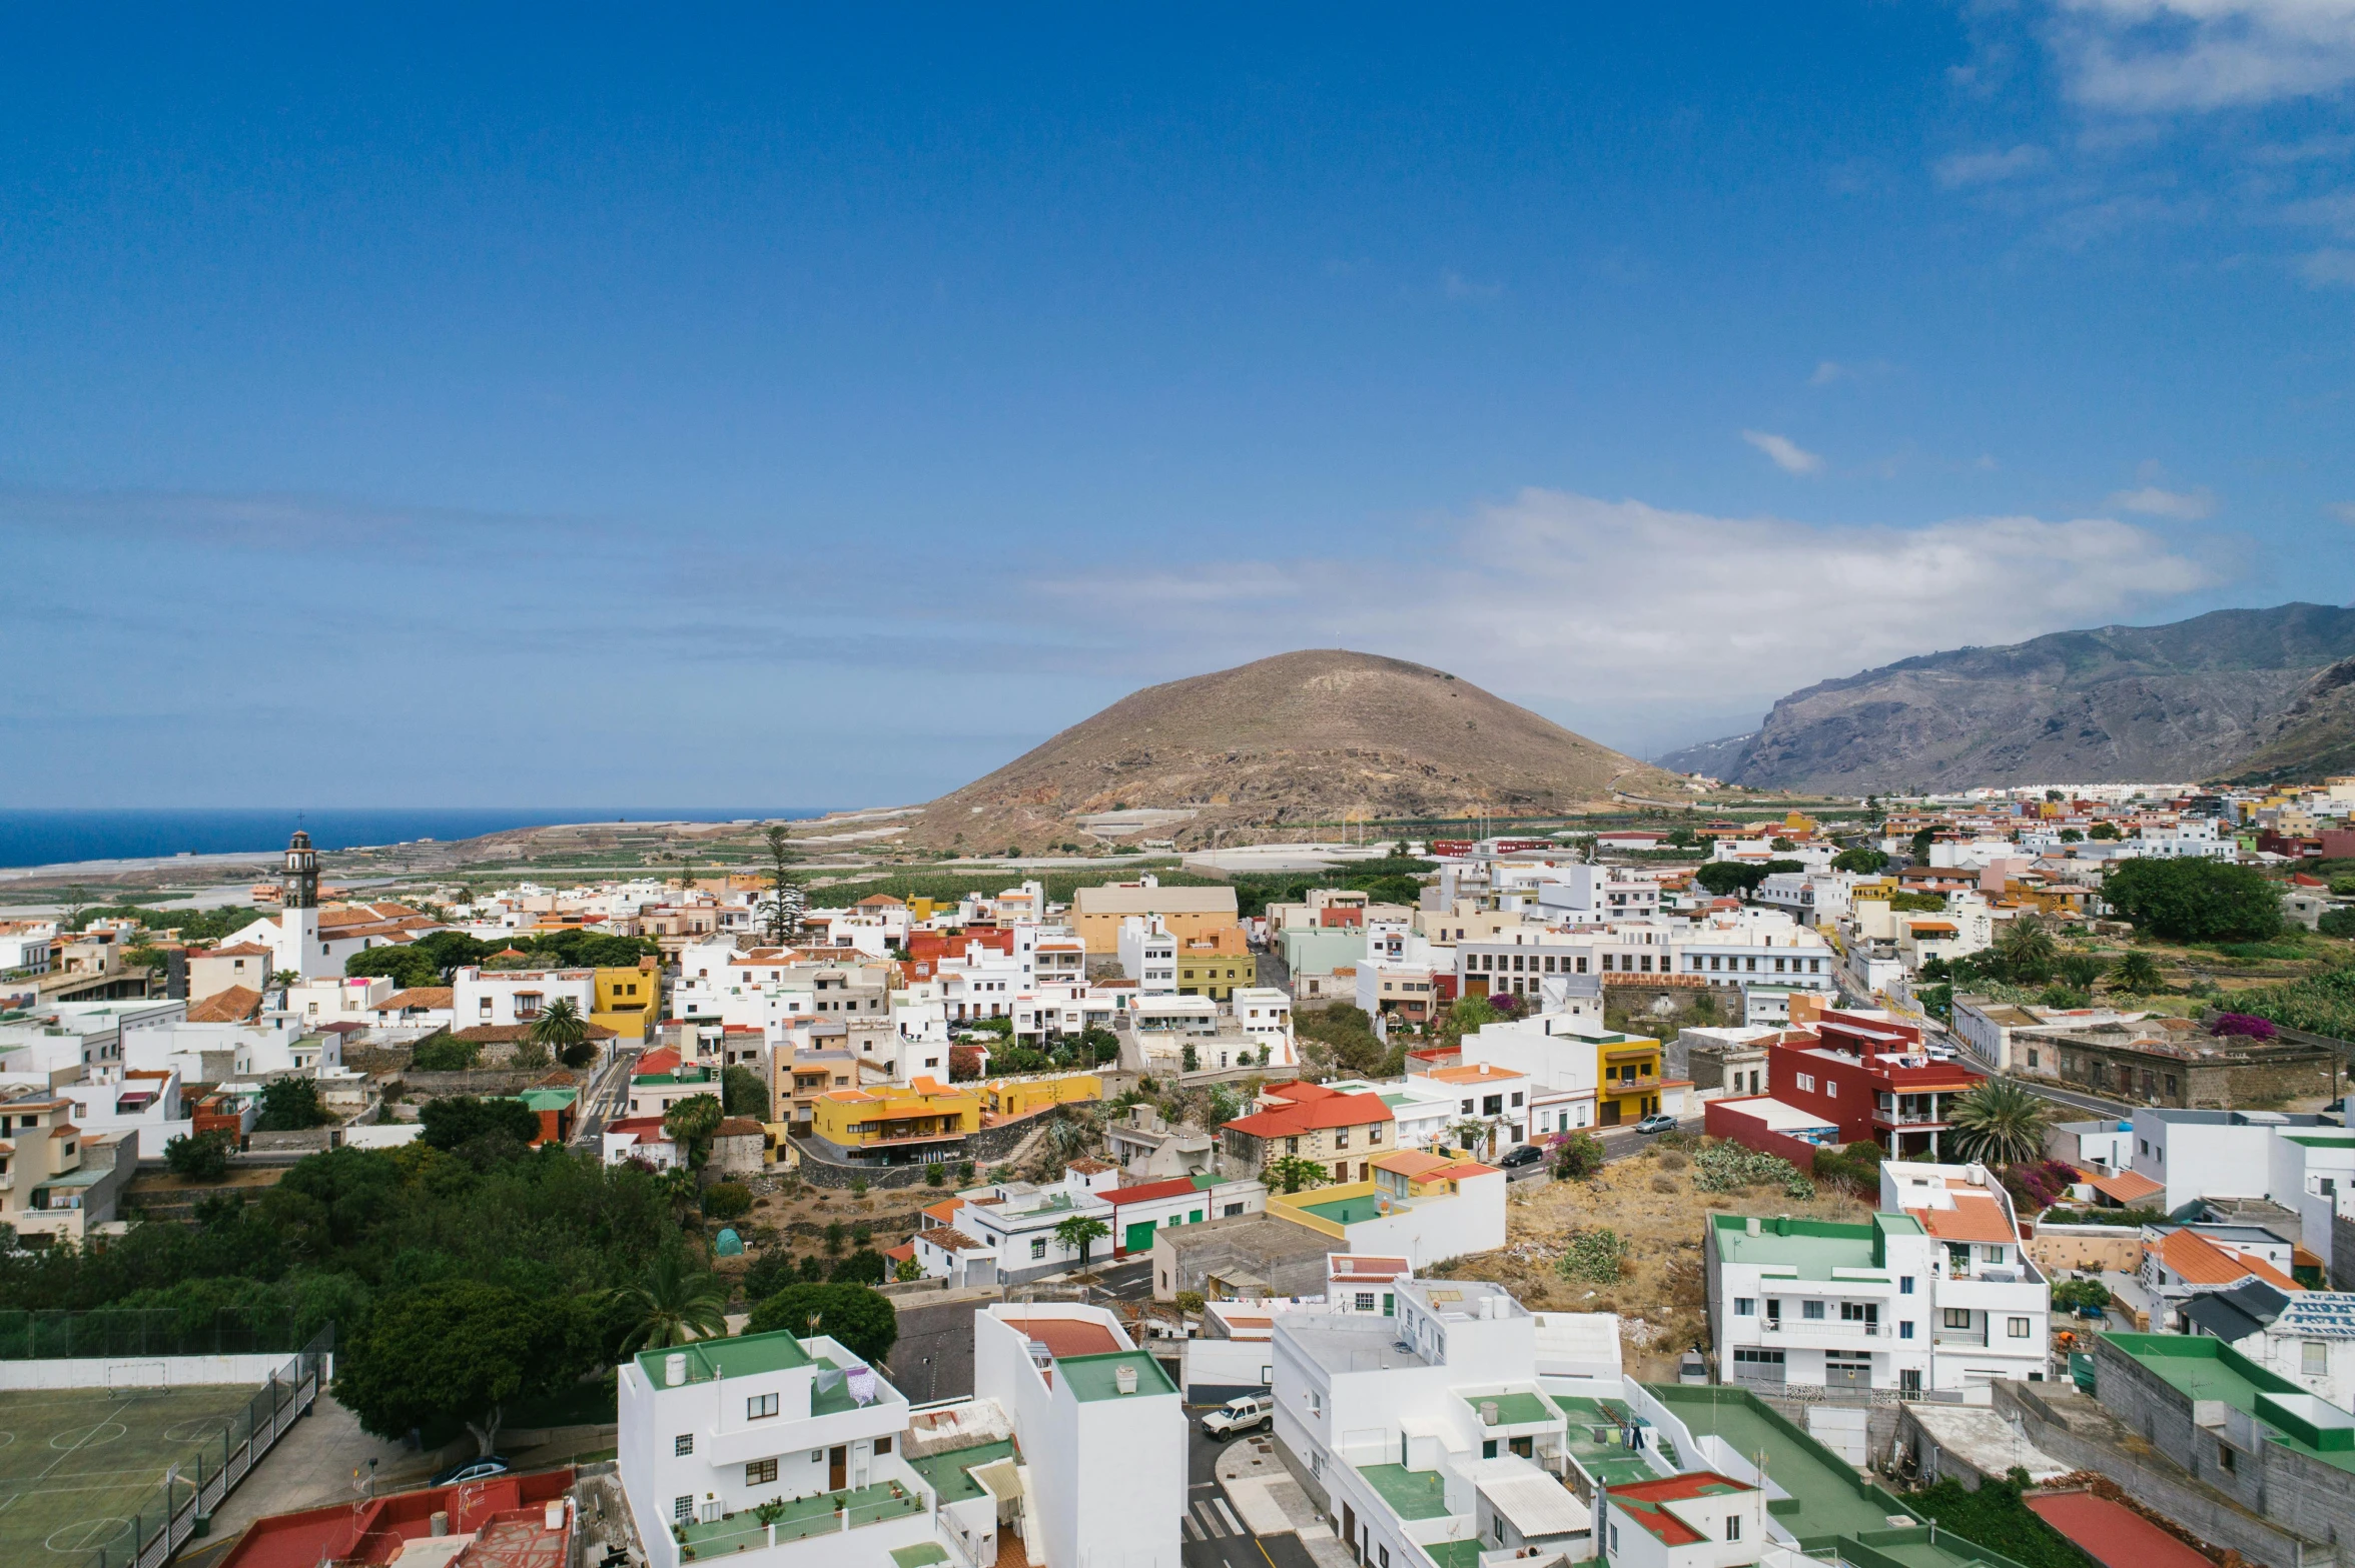
[[[1524,490],[1434,530],[1432,542],[1427,556],[1269,565],[1288,593],[1246,603],[1119,572],[1048,591],[1055,614],[1100,622],[1123,652],[1163,643],[1199,662],[1201,647],[1220,645],[1241,662],[1371,645],[1608,730],[1644,723],[1646,704],[1764,709],[1830,676],[2098,626],[2214,582],[2204,565],[2110,518],[1832,527],[1559,490]],[[1182,579],[1218,584],[1232,570]],[[1251,582],[1267,586],[1262,572]],[[1637,584],[1674,612],[1613,612],[1613,596]],[[1378,640],[1368,605],[1401,610],[1382,617]],[[1872,605],[1872,614],[1827,605]]]

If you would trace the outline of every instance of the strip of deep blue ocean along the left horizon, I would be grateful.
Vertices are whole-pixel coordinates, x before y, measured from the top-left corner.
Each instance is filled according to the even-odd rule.
[[[462,805],[462,808],[236,808],[236,810],[7,810],[0,808],[0,866],[54,866],[75,859],[146,855],[247,855],[283,850],[306,829],[320,850],[473,838],[556,822],[742,822],[822,817],[827,805]]]

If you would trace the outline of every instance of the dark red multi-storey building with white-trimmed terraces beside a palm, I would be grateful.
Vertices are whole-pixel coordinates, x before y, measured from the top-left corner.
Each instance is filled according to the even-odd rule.
[[[1922,1031],[1896,1019],[1825,1008],[1813,1038],[1783,1038],[1766,1052],[1766,1092],[1837,1123],[1842,1144],[1941,1158],[1955,1095],[1985,1083],[1985,1074],[1933,1059]]]

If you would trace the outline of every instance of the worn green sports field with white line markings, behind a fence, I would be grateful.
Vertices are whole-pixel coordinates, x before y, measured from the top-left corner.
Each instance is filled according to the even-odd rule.
[[[221,1434],[243,1427],[247,1384],[193,1389],[0,1391],[0,1563],[80,1568],[111,1547],[127,1561],[132,1516],[162,1509],[162,1476],[221,1462]],[[174,1488],[179,1500],[186,1493]]]

